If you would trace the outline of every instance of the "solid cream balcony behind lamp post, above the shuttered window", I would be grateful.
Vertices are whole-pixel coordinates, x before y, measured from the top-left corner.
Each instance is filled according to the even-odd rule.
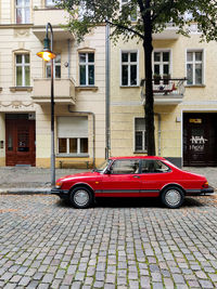
[[[49,78],[34,79],[34,95],[37,104],[51,102],[51,80]],[[54,79],[54,102],[56,104],[75,104],[75,83],[72,79]]]

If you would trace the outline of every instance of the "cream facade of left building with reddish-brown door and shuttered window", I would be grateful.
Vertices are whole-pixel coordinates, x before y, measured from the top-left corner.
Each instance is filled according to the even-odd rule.
[[[37,56],[47,23],[56,54],[55,166],[104,160],[105,26],[78,45],[66,22],[52,0],[1,1],[0,166],[50,167],[51,64]]]

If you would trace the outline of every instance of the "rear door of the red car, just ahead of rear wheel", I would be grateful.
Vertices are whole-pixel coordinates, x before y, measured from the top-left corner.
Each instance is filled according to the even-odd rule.
[[[141,160],[141,196],[157,197],[161,188],[169,182],[170,171],[161,160]]]

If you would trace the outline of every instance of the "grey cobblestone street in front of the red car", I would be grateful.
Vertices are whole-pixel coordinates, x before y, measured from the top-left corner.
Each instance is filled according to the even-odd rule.
[[[179,210],[50,195],[0,196],[0,288],[217,288],[217,196]]]

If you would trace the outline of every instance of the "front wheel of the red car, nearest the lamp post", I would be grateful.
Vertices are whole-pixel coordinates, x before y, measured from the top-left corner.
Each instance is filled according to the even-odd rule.
[[[69,193],[69,202],[77,209],[89,208],[92,201],[92,193],[87,187],[79,186],[72,189]]]

